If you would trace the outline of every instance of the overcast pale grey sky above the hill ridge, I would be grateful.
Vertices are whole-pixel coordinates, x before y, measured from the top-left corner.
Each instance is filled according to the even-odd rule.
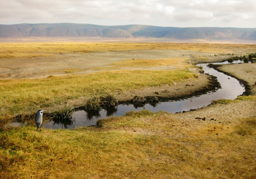
[[[0,24],[256,28],[256,0],[0,0]]]

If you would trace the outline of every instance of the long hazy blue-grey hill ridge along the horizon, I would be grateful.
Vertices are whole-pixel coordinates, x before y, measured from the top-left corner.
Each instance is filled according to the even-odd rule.
[[[101,37],[108,39],[155,39],[177,41],[251,41],[256,43],[256,28],[158,27],[150,25],[92,24],[14,24],[0,25],[1,39],[28,37]]]

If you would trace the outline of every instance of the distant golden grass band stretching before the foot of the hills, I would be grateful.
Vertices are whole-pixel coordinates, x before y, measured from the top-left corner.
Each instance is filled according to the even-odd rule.
[[[256,45],[201,43],[0,43],[0,59],[36,58],[59,54],[126,50],[182,49],[212,53],[255,52]]]

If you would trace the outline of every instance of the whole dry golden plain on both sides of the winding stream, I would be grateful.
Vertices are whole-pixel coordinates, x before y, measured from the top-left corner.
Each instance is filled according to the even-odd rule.
[[[120,101],[156,91],[169,91],[159,94],[163,97],[183,96],[210,81],[195,63],[256,52],[255,45],[236,44],[0,45],[2,121],[42,107],[51,111],[66,104],[83,106],[88,97],[105,92]],[[253,95],[179,114],[130,112],[76,130],[2,128],[1,177],[255,178],[255,64],[236,66],[220,68],[248,81]]]

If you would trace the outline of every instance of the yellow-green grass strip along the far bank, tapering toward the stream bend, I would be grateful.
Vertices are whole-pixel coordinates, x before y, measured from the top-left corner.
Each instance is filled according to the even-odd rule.
[[[173,85],[198,77],[187,69],[117,70],[86,75],[51,76],[45,79],[0,80],[2,114],[17,114],[53,106],[69,99]]]

